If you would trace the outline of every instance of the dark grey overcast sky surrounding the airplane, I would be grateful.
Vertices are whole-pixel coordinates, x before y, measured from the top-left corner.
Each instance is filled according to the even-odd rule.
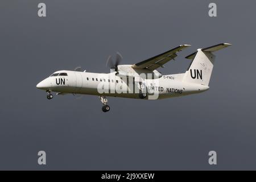
[[[47,17],[37,15],[38,3]],[[208,16],[217,3],[217,18]],[[256,169],[254,1],[1,1],[0,169]],[[216,52],[208,92],[160,101],[55,96],[36,84],[78,65],[109,72],[180,44],[162,73],[184,72],[197,48]],[[47,165],[37,164],[37,152]],[[217,166],[208,152],[217,151]]]

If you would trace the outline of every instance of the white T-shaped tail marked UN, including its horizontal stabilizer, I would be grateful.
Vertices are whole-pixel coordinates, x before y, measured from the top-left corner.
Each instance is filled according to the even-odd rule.
[[[228,46],[231,46],[231,44],[222,43],[203,49],[197,49],[196,52],[185,57],[187,59],[193,59],[193,61],[191,62],[188,70],[185,72],[183,81],[208,86],[215,59],[212,52]]]

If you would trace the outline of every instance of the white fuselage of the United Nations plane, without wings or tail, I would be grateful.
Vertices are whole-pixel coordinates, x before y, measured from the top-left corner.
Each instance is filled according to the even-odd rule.
[[[90,94],[96,96],[139,98],[138,82],[130,77],[112,73],[89,73],[77,71],[57,71],[67,73],[64,76],[49,76],[41,81],[37,88],[58,93]],[[148,92],[148,100],[185,96],[204,92],[209,86],[192,84],[183,81],[186,73],[164,75],[160,78],[145,78],[142,82]],[[129,79],[130,78],[130,79]],[[135,80],[135,81],[134,81]],[[103,90],[102,90],[103,89]]]

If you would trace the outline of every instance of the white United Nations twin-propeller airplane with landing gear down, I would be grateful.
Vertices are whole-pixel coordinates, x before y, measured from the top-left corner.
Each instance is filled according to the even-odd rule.
[[[172,75],[162,75],[157,69],[164,67],[168,61],[174,60],[178,52],[190,45],[177,46],[133,65],[119,64],[122,56],[117,52],[115,62],[112,56],[109,56],[106,63],[110,68],[110,73],[90,73],[82,71],[81,67],[76,68],[75,71],[56,71],[39,82],[36,88],[46,90],[48,100],[53,98],[51,92],[57,92],[57,95],[98,96],[103,104],[102,111],[104,112],[110,110],[106,97],[156,100],[201,93],[209,89],[215,60],[213,52],[231,45],[221,43],[197,49],[196,52],[185,57],[192,60],[187,71]]]

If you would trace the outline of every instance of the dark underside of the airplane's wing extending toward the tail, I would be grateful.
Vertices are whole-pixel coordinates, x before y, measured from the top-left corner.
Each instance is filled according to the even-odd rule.
[[[189,46],[190,45],[186,45],[186,44],[180,45],[169,51],[161,53],[160,55],[151,57],[150,59],[134,64],[132,67],[137,69],[148,69],[148,70],[154,71],[159,67],[163,67],[163,65],[166,64],[168,61],[174,59],[177,56],[176,55],[177,52],[180,52],[184,48],[187,48]]]

